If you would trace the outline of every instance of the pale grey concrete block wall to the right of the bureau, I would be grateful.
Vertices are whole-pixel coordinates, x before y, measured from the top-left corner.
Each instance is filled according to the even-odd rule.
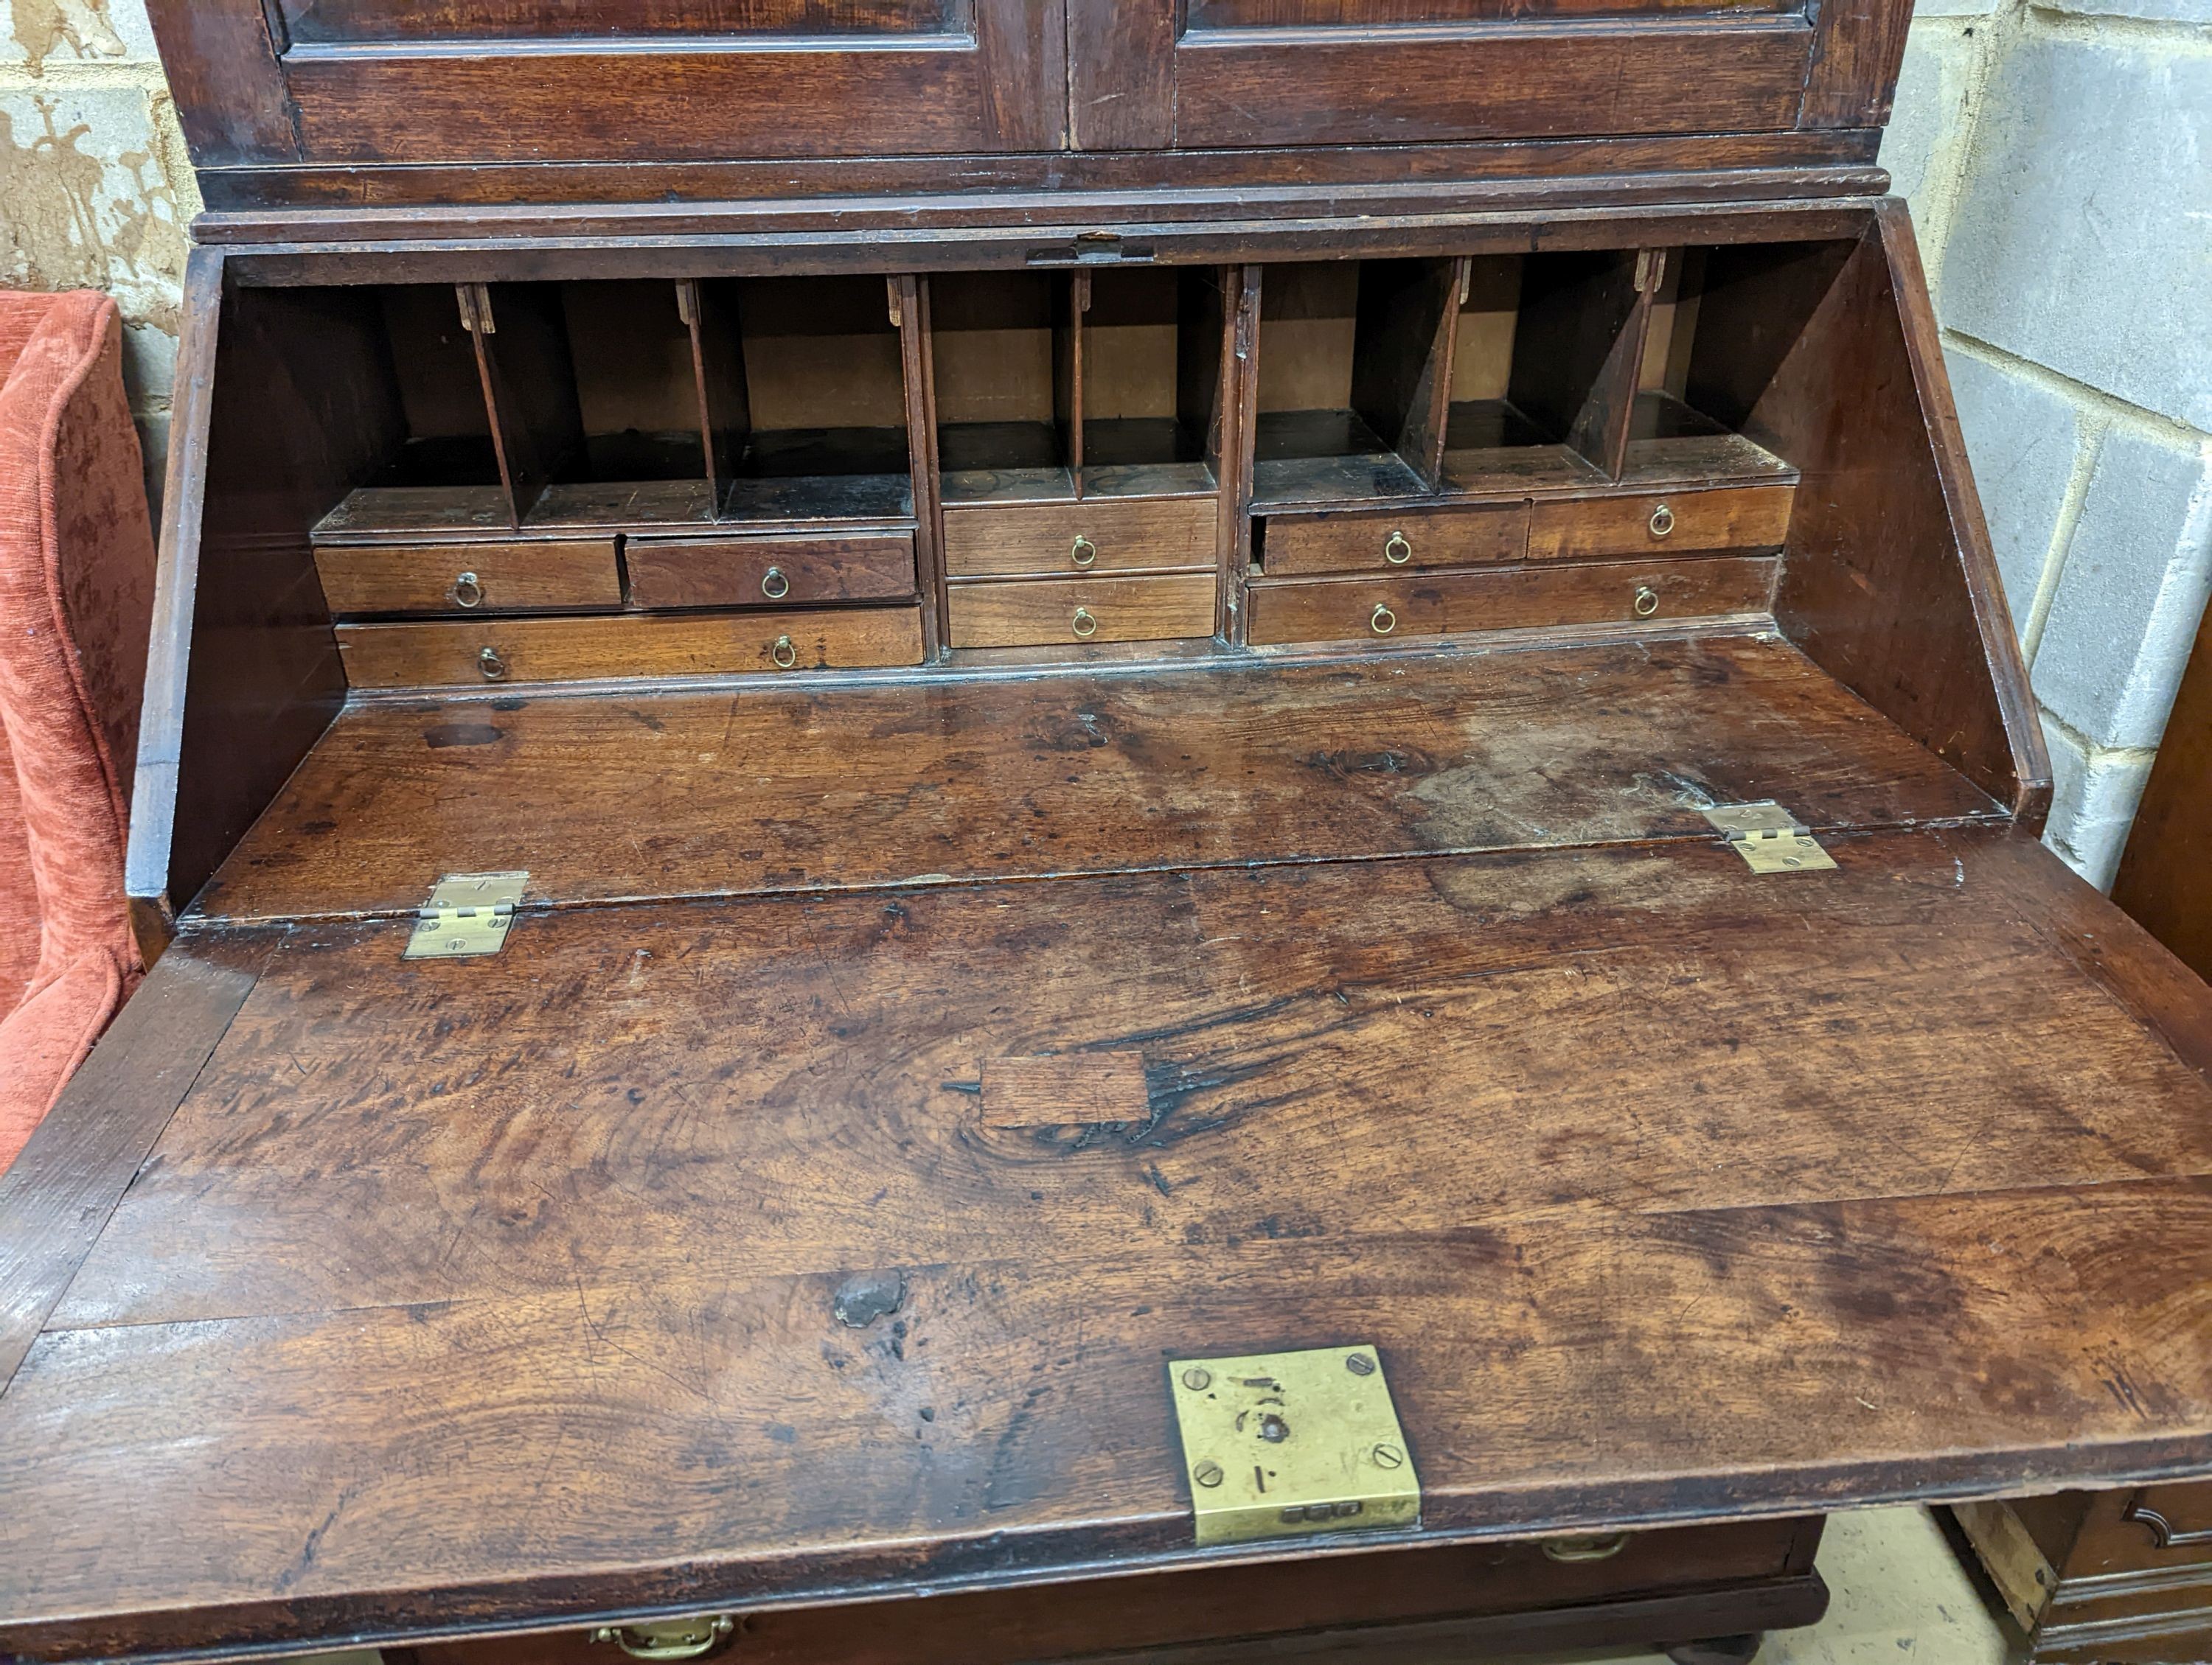
[[[2108,887],[2212,593],[2212,0],[1920,0],[1882,164],[2042,705],[2048,842]]]

